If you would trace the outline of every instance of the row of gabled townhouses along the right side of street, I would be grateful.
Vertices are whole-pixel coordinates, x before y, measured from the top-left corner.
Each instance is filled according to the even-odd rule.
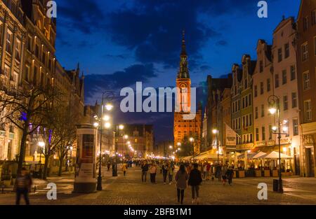
[[[296,175],[315,176],[316,1],[301,1],[296,20],[283,18],[273,31],[272,45],[258,40],[256,59],[243,55],[240,64],[232,64],[227,78],[208,76],[207,85],[202,151],[219,144],[228,160],[237,153],[247,157],[278,151],[272,130],[278,118],[268,111],[276,96],[279,132],[284,132],[281,152],[291,157],[282,165]],[[218,136],[212,129],[218,130]],[[226,142],[230,129],[237,134],[235,146]]]

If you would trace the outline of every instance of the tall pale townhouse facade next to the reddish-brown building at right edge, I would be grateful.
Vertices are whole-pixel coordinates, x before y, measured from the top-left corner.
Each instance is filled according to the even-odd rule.
[[[272,62],[274,94],[279,98],[279,116],[287,133],[282,135],[282,153],[293,157],[286,160],[285,168],[294,174],[301,174],[300,129],[298,110],[298,87],[296,76],[296,37],[294,17],[283,19],[273,32]],[[277,125],[275,118],[274,125]],[[277,136],[272,136],[277,143]]]

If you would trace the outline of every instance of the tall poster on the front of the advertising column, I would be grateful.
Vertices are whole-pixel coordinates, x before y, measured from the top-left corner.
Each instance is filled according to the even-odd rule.
[[[81,162],[79,164],[79,176],[78,180],[91,180],[93,176],[93,155],[94,155],[94,135],[93,134],[83,134],[82,135],[82,153]]]

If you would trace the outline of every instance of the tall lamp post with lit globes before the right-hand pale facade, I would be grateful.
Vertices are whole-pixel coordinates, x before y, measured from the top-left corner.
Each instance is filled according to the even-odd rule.
[[[279,185],[278,192],[283,193],[283,183],[282,183],[282,171],[281,171],[281,135],[284,134],[281,132],[281,123],[279,119],[279,97],[271,95],[268,98],[268,104],[270,105],[269,112],[274,115],[277,113],[277,123],[278,127],[272,127],[273,134],[277,134],[277,139],[279,141]]]

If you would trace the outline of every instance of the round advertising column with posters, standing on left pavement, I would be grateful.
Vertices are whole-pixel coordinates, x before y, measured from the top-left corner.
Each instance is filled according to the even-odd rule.
[[[96,192],[96,138],[93,125],[77,125],[77,160],[74,192]]]

